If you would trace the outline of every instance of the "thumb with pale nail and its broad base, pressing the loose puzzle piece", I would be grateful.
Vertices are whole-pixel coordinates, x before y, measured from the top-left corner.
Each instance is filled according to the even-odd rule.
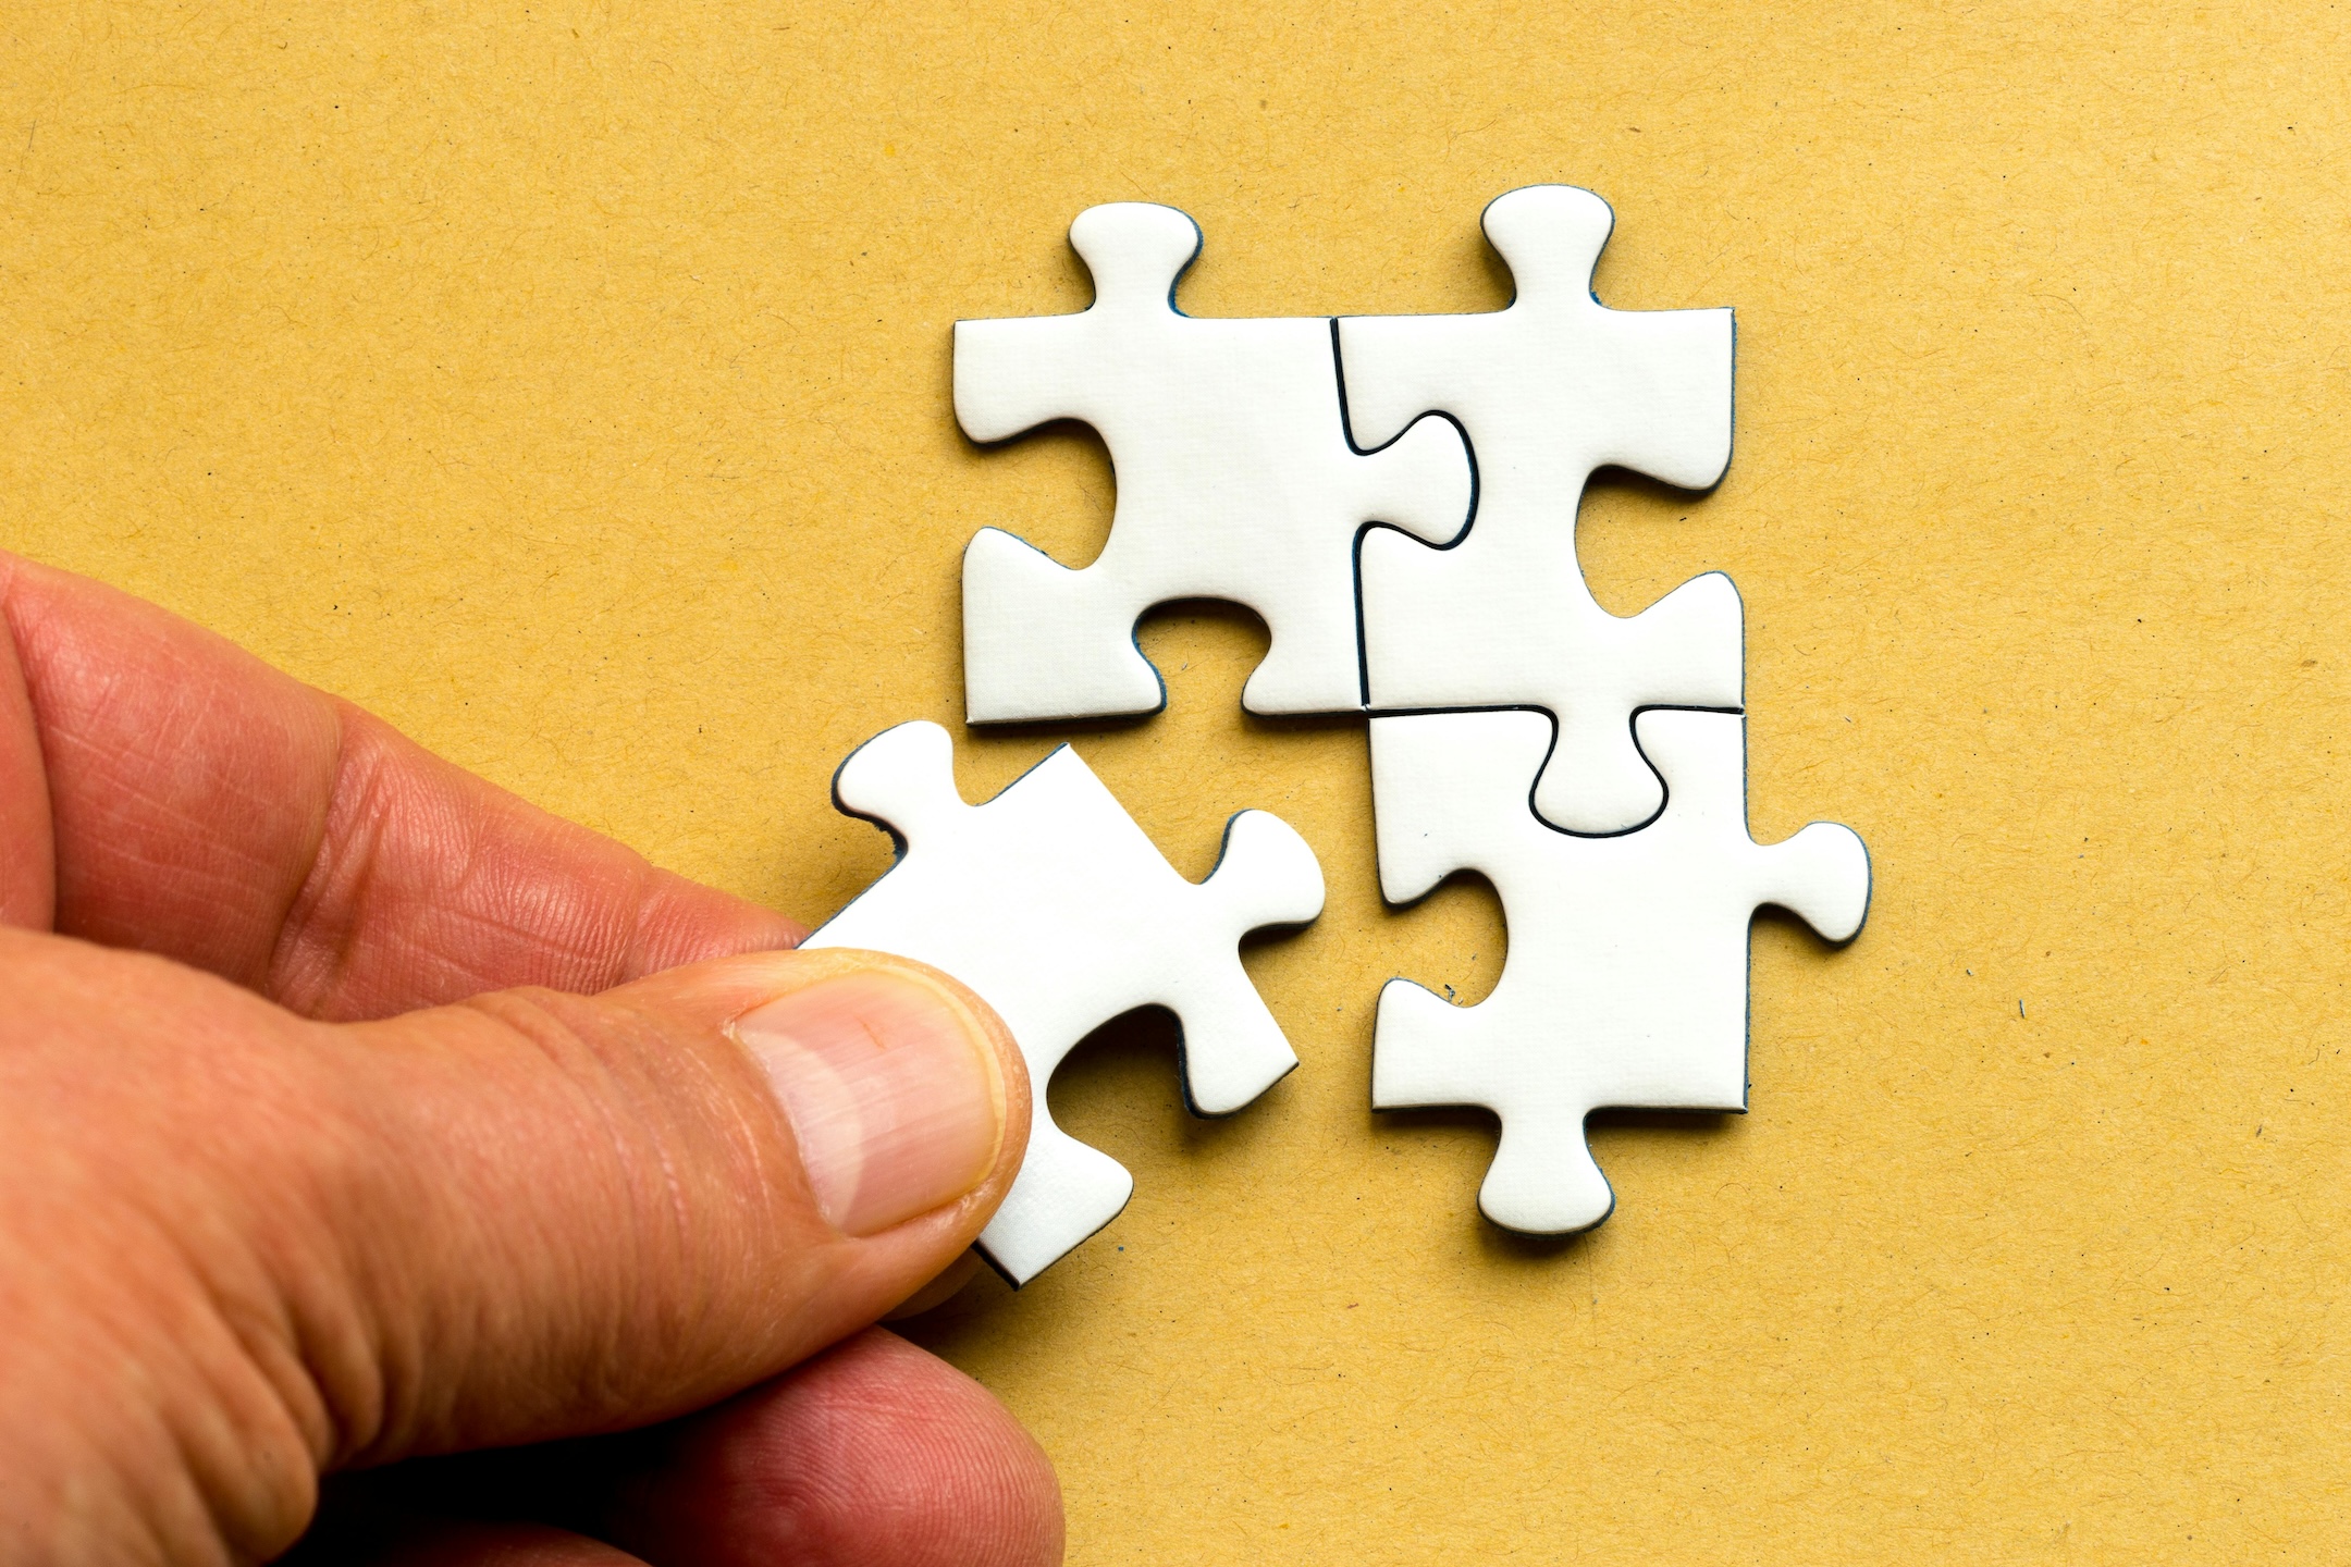
[[[997,1017],[863,951],[320,1024],[0,930],[0,1515],[172,1560],[776,1374],[971,1245],[1030,1121]]]

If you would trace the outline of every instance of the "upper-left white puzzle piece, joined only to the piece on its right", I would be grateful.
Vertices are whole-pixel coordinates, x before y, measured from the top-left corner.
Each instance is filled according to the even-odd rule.
[[[1469,517],[1469,458],[1446,421],[1347,444],[1324,317],[1194,320],[1176,280],[1199,228],[1173,207],[1091,207],[1070,244],[1093,273],[1077,315],[955,324],[955,416],[978,442],[1056,418],[1110,446],[1110,543],[1070,571],[999,529],[964,550],[964,702],[973,724],[1157,712],[1136,620],[1232,599],[1272,646],[1241,705],[1354,712],[1354,538],[1368,522],[1441,543]]]

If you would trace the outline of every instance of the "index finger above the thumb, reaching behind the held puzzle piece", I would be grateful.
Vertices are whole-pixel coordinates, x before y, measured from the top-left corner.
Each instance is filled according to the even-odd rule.
[[[0,923],[334,1020],[806,935],[89,578],[0,552]]]

